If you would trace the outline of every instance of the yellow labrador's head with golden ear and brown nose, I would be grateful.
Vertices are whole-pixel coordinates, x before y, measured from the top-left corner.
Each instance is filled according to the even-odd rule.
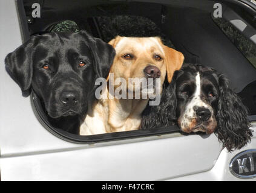
[[[116,49],[110,73],[114,74],[114,79],[125,78],[126,83],[129,83],[128,78],[145,77],[160,78],[162,85],[166,74],[171,83],[174,71],[183,64],[183,54],[163,45],[159,37],[117,36],[109,43]]]

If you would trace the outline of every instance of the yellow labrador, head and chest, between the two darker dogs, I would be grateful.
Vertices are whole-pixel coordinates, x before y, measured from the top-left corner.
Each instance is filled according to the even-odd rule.
[[[123,78],[129,90],[131,78],[160,78],[160,92],[167,74],[169,83],[174,71],[181,68],[183,54],[163,45],[159,37],[120,37],[111,40],[116,49],[116,57],[110,69],[108,86],[102,94],[108,98],[97,100],[88,110],[85,121],[80,126],[80,135],[137,130],[140,127],[141,113],[149,98],[129,99],[110,97],[110,87],[116,91],[120,86],[114,84]],[[142,87],[137,87],[140,91]],[[136,91],[136,88],[134,89]],[[133,91],[134,91],[133,90]]]

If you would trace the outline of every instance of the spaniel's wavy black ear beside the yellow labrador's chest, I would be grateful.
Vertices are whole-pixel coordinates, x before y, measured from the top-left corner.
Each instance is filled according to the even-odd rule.
[[[146,106],[142,112],[140,129],[167,127],[176,124],[176,80],[163,84],[161,101],[158,106]]]

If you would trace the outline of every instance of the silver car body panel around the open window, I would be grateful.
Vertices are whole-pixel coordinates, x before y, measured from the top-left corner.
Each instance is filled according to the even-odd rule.
[[[74,144],[38,121],[30,97],[5,71],[4,58],[22,44],[15,0],[0,1],[1,180],[243,180],[229,171],[232,157],[256,149],[254,137],[228,153],[216,136],[179,133]],[[256,180],[249,179],[249,180]]]

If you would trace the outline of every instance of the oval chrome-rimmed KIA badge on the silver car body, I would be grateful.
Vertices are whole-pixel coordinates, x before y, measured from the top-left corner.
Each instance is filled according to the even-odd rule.
[[[256,177],[256,150],[238,153],[229,164],[231,173],[241,179]]]

